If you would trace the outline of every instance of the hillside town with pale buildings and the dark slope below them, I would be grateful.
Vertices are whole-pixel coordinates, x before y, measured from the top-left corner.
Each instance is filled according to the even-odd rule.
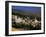
[[[41,29],[41,20],[36,17],[30,18],[29,16],[20,17],[18,15],[12,15],[12,26],[24,30],[37,30]]]

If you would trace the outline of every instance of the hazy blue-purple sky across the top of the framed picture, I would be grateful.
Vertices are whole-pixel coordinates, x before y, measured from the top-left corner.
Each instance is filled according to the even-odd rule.
[[[41,7],[29,7],[29,6],[12,6],[13,10],[20,10],[20,11],[31,11],[31,12],[41,12]]]

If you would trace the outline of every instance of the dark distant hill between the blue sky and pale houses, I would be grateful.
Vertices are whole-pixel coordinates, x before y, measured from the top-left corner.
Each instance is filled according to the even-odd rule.
[[[12,13],[14,14],[18,14],[18,15],[25,15],[25,16],[38,16],[40,17],[41,16],[41,13],[40,12],[31,12],[31,11],[20,11],[20,10],[12,10]]]

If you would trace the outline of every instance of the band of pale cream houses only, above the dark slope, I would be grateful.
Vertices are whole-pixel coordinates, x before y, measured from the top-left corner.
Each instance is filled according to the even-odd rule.
[[[29,17],[27,18],[21,18],[17,15],[12,15],[12,22],[16,22],[16,23],[23,23],[25,25],[32,25],[33,27],[37,26],[37,25],[41,25],[41,21],[38,21],[36,18],[34,19],[30,19]]]

